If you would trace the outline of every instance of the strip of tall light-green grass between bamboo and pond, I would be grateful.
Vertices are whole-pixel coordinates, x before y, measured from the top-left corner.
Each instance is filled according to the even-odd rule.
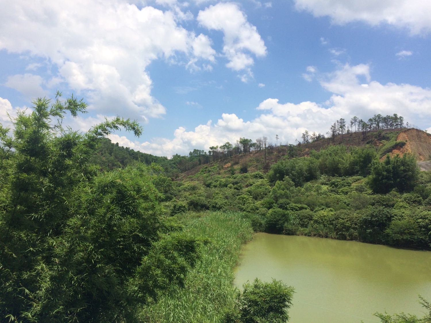
[[[241,245],[251,239],[250,222],[235,212],[188,214],[184,231],[210,239],[185,287],[143,310],[144,322],[221,322],[234,301],[233,267]]]

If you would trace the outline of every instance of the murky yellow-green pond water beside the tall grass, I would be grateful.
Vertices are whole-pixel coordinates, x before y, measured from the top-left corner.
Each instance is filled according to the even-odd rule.
[[[376,311],[423,314],[431,301],[431,252],[353,241],[257,233],[244,246],[235,285],[255,277],[294,286],[289,322],[380,322]]]

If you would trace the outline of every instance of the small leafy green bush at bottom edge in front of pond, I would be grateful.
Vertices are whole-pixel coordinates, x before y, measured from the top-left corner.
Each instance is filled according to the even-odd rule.
[[[264,283],[255,279],[238,292],[234,309],[225,314],[224,322],[284,323],[289,320],[287,310],[292,305],[294,289],[278,280]]]

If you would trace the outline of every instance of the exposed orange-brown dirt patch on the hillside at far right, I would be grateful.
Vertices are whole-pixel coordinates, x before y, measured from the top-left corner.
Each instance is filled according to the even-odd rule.
[[[431,155],[431,135],[418,129],[407,129],[401,131],[397,141],[405,141],[404,146],[396,146],[389,155],[404,155],[406,152],[414,155],[416,160],[428,160]]]

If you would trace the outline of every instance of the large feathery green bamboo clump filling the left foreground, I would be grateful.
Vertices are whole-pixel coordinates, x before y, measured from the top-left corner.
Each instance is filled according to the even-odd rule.
[[[140,135],[135,121],[116,117],[81,134],[61,120],[85,112],[82,100],[37,99],[33,108],[18,113],[12,137],[0,127],[0,320],[134,320],[138,307],[184,284],[200,242],[161,216],[151,175],[159,167],[98,174],[89,162],[113,130]]]

